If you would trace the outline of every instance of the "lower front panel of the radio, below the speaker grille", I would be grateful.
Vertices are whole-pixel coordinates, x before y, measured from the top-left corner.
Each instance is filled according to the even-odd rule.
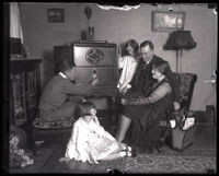
[[[76,82],[89,83],[95,72],[99,83],[96,86],[116,86],[116,78],[113,68],[77,68]]]

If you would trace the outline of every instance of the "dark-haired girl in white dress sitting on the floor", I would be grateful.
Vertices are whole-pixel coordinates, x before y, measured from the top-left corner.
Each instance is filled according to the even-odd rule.
[[[93,103],[82,102],[79,107],[81,117],[73,124],[65,157],[60,161],[74,159],[97,164],[99,161],[131,156],[131,148],[117,142],[100,125]]]

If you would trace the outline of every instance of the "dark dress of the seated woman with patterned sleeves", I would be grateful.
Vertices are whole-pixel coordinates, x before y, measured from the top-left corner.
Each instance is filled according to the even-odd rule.
[[[153,86],[151,93],[163,83],[170,84],[170,81],[166,78],[163,79]],[[124,106],[123,115],[130,118],[134,124],[131,143],[140,146],[155,144],[159,141],[160,120],[164,116],[165,110],[172,107],[172,92],[165,94],[162,98],[154,103],[148,103],[147,105]]]

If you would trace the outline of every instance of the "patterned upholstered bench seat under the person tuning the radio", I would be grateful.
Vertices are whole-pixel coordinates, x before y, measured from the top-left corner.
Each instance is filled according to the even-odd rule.
[[[74,121],[76,119],[70,117],[53,121],[46,121],[45,119],[37,117],[33,121],[33,126],[38,129],[66,129],[71,128]]]

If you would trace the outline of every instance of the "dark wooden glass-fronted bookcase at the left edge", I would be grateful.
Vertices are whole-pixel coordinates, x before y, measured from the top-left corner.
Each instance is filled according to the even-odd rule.
[[[41,96],[42,59],[10,60],[10,125],[21,127],[33,144],[33,120]]]

